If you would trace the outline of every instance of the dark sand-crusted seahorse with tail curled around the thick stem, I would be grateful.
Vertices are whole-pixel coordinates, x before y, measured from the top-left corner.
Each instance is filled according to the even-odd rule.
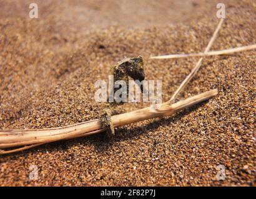
[[[125,58],[124,60],[117,63],[117,65],[113,68],[114,73],[114,82],[123,80],[127,85],[127,96],[129,95],[129,76],[135,81],[143,81],[145,79],[144,73],[144,63],[142,57],[137,58]],[[114,88],[114,94],[119,88]],[[143,92],[142,86],[140,86],[140,90]],[[111,123],[111,115],[114,114],[114,108],[119,104],[123,104],[124,102],[117,102],[116,99],[111,102],[109,98],[107,99],[107,103],[104,104],[105,108],[102,110],[100,114],[100,119],[102,123],[102,127],[106,129],[107,135],[109,137],[114,136],[114,126]]]

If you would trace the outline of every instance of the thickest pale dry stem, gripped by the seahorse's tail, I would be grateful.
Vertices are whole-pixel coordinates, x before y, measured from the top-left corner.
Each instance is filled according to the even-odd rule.
[[[205,93],[181,100],[175,104],[160,104],[157,108],[149,106],[129,113],[111,116],[114,127],[136,123],[145,119],[170,116],[182,109],[200,103],[217,95],[217,90],[210,90]],[[84,123],[73,124],[64,127],[51,129],[17,129],[0,131],[0,154],[9,154],[20,150],[30,149],[49,142],[72,139],[76,137],[89,136],[104,131],[101,121],[94,119]],[[2,150],[11,147],[20,147],[12,150]]]

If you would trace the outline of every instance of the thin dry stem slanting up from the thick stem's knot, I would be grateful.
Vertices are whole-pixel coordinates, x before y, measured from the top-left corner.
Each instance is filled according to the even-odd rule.
[[[210,47],[212,47],[212,44],[214,44],[214,40],[216,39],[217,34],[218,34],[218,32],[220,30],[220,27],[223,24],[223,22],[224,22],[224,19],[220,19],[220,22],[219,22],[217,28],[215,29],[214,34],[212,35],[212,38],[210,39],[209,44],[207,45],[206,49],[204,50],[204,53],[209,52]],[[182,83],[180,84],[179,88],[175,91],[174,95],[172,95],[172,98],[170,98],[170,100],[167,101],[166,103],[169,103],[169,104],[173,104],[174,103],[174,101],[177,98],[177,96],[179,95],[180,91],[182,91],[185,88],[187,83],[189,83],[189,81],[195,76],[195,74],[199,70],[199,68],[200,68],[200,66],[202,64],[202,60],[203,60],[203,57],[200,58],[200,60],[197,62],[197,64],[193,68],[192,72],[190,72],[190,74],[185,78],[185,80],[182,81]]]

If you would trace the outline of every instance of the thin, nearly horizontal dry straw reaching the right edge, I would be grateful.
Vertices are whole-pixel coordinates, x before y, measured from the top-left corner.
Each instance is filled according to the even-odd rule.
[[[165,59],[165,58],[207,57],[207,56],[214,56],[214,55],[229,55],[235,52],[242,52],[245,50],[254,50],[254,49],[256,49],[256,44],[245,45],[242,47],[237,47],[232,49],[210,51],[207,53],[199,52],[199,53],[188,53],[188,54],[172,54],[172,55],[154,56],[150,58]]]

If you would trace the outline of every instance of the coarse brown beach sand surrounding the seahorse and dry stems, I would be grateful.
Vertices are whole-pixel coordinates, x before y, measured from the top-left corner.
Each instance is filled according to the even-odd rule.
[[[170,98],[218,23],[219,1],[0,1],[0,128],[43,128],[98,117],[94,81],[142,55],[148,80]],[[212,50],[256,43],[255,1],[222,1],[226,20]],[[179,99],[219,95],[172,117],[0,157],[0,185],[255,185],[255,55],[208,57]],[[127,104],[130,111],[148,104]],[[218,181],[217,165],[226,178]],[[39,179],[29,180],[37,165]]]

